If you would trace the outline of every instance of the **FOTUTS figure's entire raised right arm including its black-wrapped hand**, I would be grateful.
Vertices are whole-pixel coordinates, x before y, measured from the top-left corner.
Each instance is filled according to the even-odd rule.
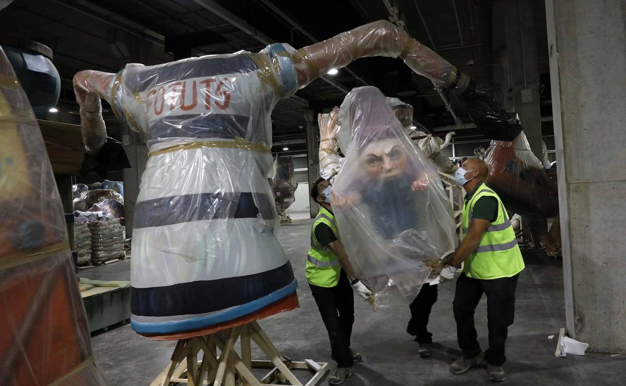
[[[522,130],[515,113],[508,113],[493,98],[477,89],[475,81],[469,76],[457,71],[446,59],[389,21],[365,24],[301,48],[298,53],[295,62],[300,88],[326,74],[329,69],[345,67],[358,58],[402,58],[415,73],[456,94],[465,104],[476,127],[488,138],[513,141]]]

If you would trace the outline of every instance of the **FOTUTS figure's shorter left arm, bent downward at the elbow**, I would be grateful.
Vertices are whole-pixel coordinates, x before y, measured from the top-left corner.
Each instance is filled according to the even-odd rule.
[[[80,71],[74,75],[74,93],[80,106],[81,134],[87,153],[97,153],[106,143],[106,126],[102,119],[100,98],[111,103],[108,90],[115,74]]]

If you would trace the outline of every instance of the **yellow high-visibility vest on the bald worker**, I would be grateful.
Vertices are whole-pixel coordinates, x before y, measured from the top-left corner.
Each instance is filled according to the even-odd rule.
[[[474,205],[481,197],[494,197],[498,200],[498,218],[489,224],[478,248],[465,260],[463,272],[466,276],[476,279],[497,279],[516,275],[524,269],[524,260],[521,257],[520,246],[517,245],[515,231],[500,197],[485,183],[481,183],[476,193],[463,205],[464,234],[467,234]]]

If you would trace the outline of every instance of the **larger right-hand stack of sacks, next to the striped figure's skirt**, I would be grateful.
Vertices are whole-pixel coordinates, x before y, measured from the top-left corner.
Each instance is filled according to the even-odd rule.
[[[124,257],[124,235],[120,220],[91,221],[91,262]]]

